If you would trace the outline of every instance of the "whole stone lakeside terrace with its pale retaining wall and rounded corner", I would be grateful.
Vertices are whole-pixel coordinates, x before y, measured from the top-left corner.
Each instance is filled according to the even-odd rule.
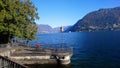
[[[1,47],[0,55],[20,64],[69,64],[72,48],[31,48],[24,43]],[[18,46],[22,45],[22,46]]]

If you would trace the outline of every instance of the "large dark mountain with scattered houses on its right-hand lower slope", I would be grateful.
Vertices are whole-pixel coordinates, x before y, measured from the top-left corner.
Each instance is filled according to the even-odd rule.
[[[67,29],[72,32],[110,30],[120,30],[120,7],[90,12]]]

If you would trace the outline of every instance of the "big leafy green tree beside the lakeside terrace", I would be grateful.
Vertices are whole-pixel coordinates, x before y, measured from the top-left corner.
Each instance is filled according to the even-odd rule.
[[[35,19],[37,8],[30,0],[0,0],[0,42],[7,43],[12,36],[34,39]]]

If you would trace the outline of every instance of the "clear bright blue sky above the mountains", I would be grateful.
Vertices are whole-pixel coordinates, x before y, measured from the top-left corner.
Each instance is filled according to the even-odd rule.
[[[86,14],[103,8],[120,7],[120,0],[31,0],[38,9],[37,24],[51,27],[74,25]]]

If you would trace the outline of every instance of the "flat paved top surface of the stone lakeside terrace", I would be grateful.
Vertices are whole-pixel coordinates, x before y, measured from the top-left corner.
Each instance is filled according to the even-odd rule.
[[[72,51],[65,49],[45,49],[45,48],[28,48],[28,47],[19,47],[21,49],[16,50],[12,53],[11,56],[42,56],[42,55],[69,55],[72,54]]]

